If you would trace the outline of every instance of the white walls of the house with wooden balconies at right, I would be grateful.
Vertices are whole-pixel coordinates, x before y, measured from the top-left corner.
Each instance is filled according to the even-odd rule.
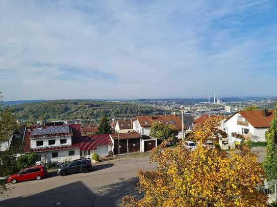
[[[225,122],[225,132],[228,134],[229,142],[241,142],[242,139],[232,136],[232,132],[237,134],[243,134],[243,129],[248,129],[253,138],[251,141],[265,141],[265,132],[267,128],[254,128],[250,123],[248,126],[238,125],[238,116],[241,116],[239,113],[236,113],[231,119]],[[245,122],[244,118],[242,120]]]

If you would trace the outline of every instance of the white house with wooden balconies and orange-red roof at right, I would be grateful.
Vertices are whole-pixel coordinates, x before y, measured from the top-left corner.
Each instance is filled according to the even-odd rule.
[[[229,142],[241,142],[245,135],[251,136],[251,141],[266,141],[265,132],[270,127],[274,110],[238,111],[225,121],[225,132]]]

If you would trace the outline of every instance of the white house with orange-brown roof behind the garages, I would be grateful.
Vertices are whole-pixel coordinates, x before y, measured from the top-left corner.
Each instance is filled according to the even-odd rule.
[[[178,138],[182,138],[182,119],[180,116],[175,114],[168,115],[141,115],[137,116],[133,122],[133,130],[139,132],[141,135],[150,135],[150,129],[154,122],[160,122],[163,124],[171,125],[178,132]],[[184,126],[184,130],[186,127]]]

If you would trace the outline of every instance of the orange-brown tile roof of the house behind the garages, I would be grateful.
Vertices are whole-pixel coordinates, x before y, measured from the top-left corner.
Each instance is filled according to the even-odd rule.
[[[164,124],[169,124],[175,127],[177,130],[182,130],[182,119],[178,115],[168,114],[168,115],[142,115],[137,116],[137,120],[141,127],[151,127],[154,122],[160,122]]]

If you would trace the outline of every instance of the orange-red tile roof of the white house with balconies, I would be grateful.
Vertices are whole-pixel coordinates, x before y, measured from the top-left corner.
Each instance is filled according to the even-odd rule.
[[[264,116],[264,110],[250,110],[250,111],[238,111],[228,118],[230,120],[235,114],[239,113],[247,120],[250,125],[255,128],[266,128],[270,127],[272,119],[274,117],[274,110],[268,110],[267,116]],[[226,120],[225,122],[227,122]]]

